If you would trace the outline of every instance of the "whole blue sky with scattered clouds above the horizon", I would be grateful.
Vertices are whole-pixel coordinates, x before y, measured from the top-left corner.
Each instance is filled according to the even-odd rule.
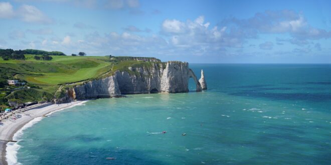
[[[331,63],[330,0],[0,0],[0,48]]]

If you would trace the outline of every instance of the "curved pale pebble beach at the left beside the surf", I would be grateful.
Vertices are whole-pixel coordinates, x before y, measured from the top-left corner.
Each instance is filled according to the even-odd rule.
[[[19,114],[22,114],[22,117],[18,118],[15,122],[10,121],[9,119],[1,121],[4,124],[0,125],[0,164],[8,164],[6,157],[7,143],[10,142],[10,140],[14,140],[13,137],[15,133],[18,132],[24,125],[37,117],[45,116],[54,111],[65,109],[81,102],[83,101],[72,101],[69,103],[50,104],[47,106],[35,107],[24,112],[19,112]]]

